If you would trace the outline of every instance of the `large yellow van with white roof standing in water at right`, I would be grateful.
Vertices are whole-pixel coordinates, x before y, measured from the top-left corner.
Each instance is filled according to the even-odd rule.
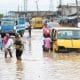
[[[80,52],[80,28],[54,28],[51,32],[55,52]]]

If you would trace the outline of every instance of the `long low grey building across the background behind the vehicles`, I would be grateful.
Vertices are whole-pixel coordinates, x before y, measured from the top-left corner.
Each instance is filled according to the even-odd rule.
[[[57,13],[53,11],[9,11],[8,12],[12,17],[53,17]]]

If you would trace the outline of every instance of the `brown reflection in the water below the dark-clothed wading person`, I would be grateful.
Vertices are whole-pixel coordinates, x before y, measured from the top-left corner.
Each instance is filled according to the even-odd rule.
[[[23,74],[23,62],[17,61],[16,62],[16,80],[24,80],[24,74]]]

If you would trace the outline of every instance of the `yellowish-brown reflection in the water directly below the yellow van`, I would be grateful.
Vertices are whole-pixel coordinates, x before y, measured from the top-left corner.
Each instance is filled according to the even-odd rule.
[[[53,53],[54,60],[80,61],[80,53]]]

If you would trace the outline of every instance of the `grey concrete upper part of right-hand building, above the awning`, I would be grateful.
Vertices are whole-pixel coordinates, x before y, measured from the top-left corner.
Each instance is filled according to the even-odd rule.
[[[76,15],[77,7],[75,5],[59,5],[58,6],[58,15],[60,16],[68,16],[68,15]],[[80,6],[78,6],[78,14],[80,15]]]

